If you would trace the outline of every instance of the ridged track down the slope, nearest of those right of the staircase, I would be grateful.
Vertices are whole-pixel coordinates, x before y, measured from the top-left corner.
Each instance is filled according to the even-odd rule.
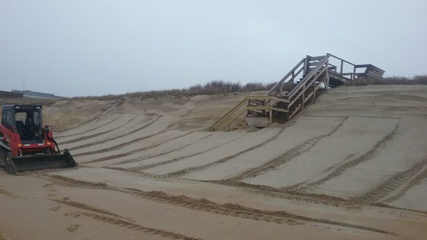
[[[255,177],[255,176],[261,174],[262,172],[276,169],[278,166],[285,164],[285,163],[289,162],[290,160],[292,160],[293,158],[307,152],[312,147],[314,147],[324,137],[329,137],[332,134],[334,134],[341,126],[343,126],[344,122],[348,118],[349,117],[344,117],[344,119],[330,133],[328,133],[326,135],[320,135],[318,137],[308,139],[307,141],[297,145],[294,148],[291,148],[290,150],[286,151],[284,154],[280,155],[277,158],[274,158],[273,160],[268,161],[267,163],[261,165],[260,167],[250,169],[250,170],[245,171],[239,175],[233,176],[229,179],[233,180],[233,181],[240,181],[244,178]]]

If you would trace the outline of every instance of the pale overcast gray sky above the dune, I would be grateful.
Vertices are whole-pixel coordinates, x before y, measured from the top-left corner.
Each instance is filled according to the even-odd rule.
[[[61,96],[279,80],[332,53],[427,73],[426,0],[0,0],[0,90]]]

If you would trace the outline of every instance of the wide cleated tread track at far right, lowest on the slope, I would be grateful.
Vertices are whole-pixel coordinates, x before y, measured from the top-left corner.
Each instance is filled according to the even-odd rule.
[[[349,201],[354,201],[362,204],[373,204],[382,198],[386,197],[388,194],[392,193],[399,186],[407,182],[406,186],[397,193],[395,196],[392,196],[386,199],[384,202],[392,202],[404,196],[404,194],[412,188],[417,182],[427,177],[427,158],[418,162],[410,169],[406,171],[399,172],[389,178],[384,183],[375,187],[373,190],[358,196],[351,198]],[[417,174],[418,173],[418,174]],[[415,177],[414,177],[415,176]]]

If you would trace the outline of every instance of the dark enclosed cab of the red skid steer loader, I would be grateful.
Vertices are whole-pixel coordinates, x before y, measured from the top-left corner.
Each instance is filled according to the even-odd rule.
[[[1,110],[1,125],[19,134],[22,143],[43,142],[40,105],[6,105]]]

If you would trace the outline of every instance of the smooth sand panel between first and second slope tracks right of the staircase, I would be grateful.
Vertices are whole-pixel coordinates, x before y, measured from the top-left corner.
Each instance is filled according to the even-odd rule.
[[[390,134],[398,119],[349,117],[332,135],[322,138],[307,152],[274,170],[246,179],[250,184],[289,187],[321,177],[343,161],[369,152],[375,143]],[[357,134],[359,137],[349,137]],[[349,159],[349,154],[353,158]]]

